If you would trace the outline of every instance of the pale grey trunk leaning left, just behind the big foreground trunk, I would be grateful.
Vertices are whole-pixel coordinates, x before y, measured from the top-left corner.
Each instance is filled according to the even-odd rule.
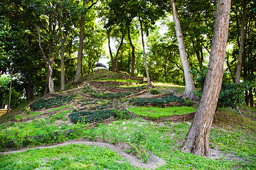
[[[183,42],[183,35],[181,30],[181,23],[178,19],[178,13],[176,11],[174,0],[171,0],[171,5],[172,5],[172,11],[173,11],[173,17],[174,17],[174,23],[175,23],[176,37],[178,40],[178,50],[181,56],[181,63],[183,66],[183,71],[185,76],[186,89],[183,92],[183,96],[185,96],[186,98],[194,98],[195,94],[193,94],[193,91],[196,91],[196,87],[193,84],[193,77],[190,73],[191,68],[189,66],[188,58],[186,56],[186,50],[185,50],[185,45]]]

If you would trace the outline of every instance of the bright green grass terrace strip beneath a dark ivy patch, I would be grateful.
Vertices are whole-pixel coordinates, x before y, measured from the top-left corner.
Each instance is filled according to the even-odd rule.
[[[183,106],[183,107],[132,107],[129,111],[134,112],[137,115],[149,116],[149,118],[166,118],[171,115],[183,115],[186,113],[192,113],[196,111],[196,108]]]

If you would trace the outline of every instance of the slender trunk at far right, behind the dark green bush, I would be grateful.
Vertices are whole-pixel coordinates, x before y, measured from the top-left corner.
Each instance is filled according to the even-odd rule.
[[[241,30],[240,30],[240,47],[238,53],[238,66],[237,72],[235,76],[235,84],[240,83],[241,77],[241,69],[242,69],[242,51],[245,45],[245,19],[246,19],[246,11],[247,11],[247,0],[243,0],[242,5],[242,21],[241,21]]]

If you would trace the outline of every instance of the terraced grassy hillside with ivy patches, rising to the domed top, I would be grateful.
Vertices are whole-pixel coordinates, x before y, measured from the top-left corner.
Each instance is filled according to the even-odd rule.
[[[184,87],[107,70],[67,87],[0,117],[0,169],[256,169],[255,109],[218,109],[205,158],[178,150],[198,104]]]

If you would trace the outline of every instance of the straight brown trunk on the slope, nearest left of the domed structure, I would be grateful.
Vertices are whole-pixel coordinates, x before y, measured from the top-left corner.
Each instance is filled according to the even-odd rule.
[[[83,0],[83,6],[85,7],[86,1]],[[81,72],[82,72],[82,45],[84,40],[85,33],[85,16],[81,17],[81,25],[80,25],[80,36],[79,36],[79,45],[78,45],[78,65],[75,72],[74,82],[77,83],[80,80]]]

